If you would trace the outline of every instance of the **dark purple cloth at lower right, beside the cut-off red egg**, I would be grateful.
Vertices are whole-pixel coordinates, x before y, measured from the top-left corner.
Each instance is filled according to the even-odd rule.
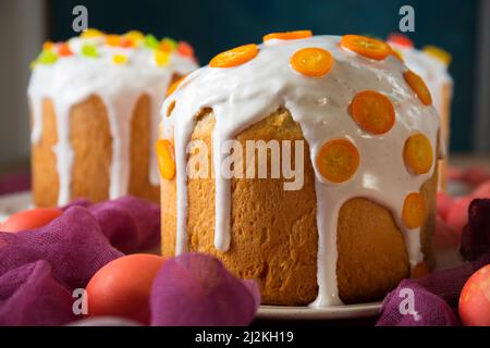
[[[476,271],[490,263],[490,200],[474,200],[469,207],[468,219],[469,223],[462,238],[462,254],[468,262],[420,279],[405,279],[400,283],[384,299],[377,325],[458,324],[457,303],[463,286]],[[406,307],[411,294],[413,306]],[[406,310],[409,307],[412,310]]]

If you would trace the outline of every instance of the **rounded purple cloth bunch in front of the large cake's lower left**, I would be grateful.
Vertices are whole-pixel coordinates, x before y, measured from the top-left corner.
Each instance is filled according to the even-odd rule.
[[[243,326],[254,320],[260,294],[203,253],[168,260],[151,291],[151,325]]]

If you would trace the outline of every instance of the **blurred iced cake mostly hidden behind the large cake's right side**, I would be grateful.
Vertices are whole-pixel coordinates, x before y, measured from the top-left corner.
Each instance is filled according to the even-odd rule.
[[[441,116],[441,140],[449,149],[451,102],[453,99],[453,79],[449,74],[451,54],[436,46],[426,46],[421,50],[402,34],[392,34],[388,38],[390,46],[405,61],[405,64],[420,75],[429,88],[433,105]],[[446,150],[448,151],[448,150]],[[448,156],[439,163],[439,189],[446,187]]]

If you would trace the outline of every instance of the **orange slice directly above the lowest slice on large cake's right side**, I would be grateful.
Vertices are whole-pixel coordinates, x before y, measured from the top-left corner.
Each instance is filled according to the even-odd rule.
[[[403,149],[405,165],[416,175],[426,174],[432,167],[433,154],[429,139],[422,134],[411,136]]]

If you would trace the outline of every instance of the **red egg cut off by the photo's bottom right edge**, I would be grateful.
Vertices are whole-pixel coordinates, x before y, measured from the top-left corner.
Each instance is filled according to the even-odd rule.
[[[460,319],[465,326],[490,326],[490,264],[471,275],[463,287]]]

